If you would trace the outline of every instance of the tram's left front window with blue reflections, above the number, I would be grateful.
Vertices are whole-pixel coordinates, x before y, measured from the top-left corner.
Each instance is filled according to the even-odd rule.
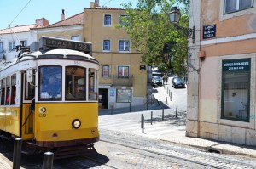
[[[61,100],[61,66],[41,66],[39,68],[39,99]]]

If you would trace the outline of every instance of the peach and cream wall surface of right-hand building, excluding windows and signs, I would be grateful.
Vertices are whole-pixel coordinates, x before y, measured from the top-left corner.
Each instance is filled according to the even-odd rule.
[[[231,14],[224,14],[224,1],[198,0],[192,2],[192,10],[196,5],[201,7],[200,15],[200,45],[204,59],[199,60],[201,65],[199,76],[190,73],[197,79],[198,86],[193,84],[188,88],[188,136],[210,138],[236,144],[256,145],[255,122],[255,62],[256,48],[256,8],[248,8]],[[255,3],[253,4],[255,6]],[[195,15],[193,15],[195,16]],[[192,17],[193,17],[192,16]],[[194,18],[195,19],[195,18]],[[196,20],[196,19],[195,19]],[[190,20],[191,24],[192,20]],[[203,26],[216,25],[216,36],[203,39]],[[198,40],[198,39],[197,39]],[[199,55],[197,54],[197,57]],[[248,121],[225,119],[222,112],[222,81],[223,60],[251,59],[250,70],[250,117]],[[192,64],[197,64],[193,60]],[[193,79],[192,78],[192,79]],[[191,79],[191,78],[190,78]],[[189,82],[190,85],[190,82]],[[198,87],[198,98],[193,95],[193,88]],[[198,103],[198,110],[191,103]],[[190,107],[189,107],[190,106]],[[237,106],[237,105],[234,105]],[[236,110],[236,108],[234,108]],[[236,112],[237,113],[237,112]]]

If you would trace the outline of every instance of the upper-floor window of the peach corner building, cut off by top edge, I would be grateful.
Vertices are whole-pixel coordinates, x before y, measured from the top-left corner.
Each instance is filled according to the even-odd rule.
[[[253,7],[253,0],[224,0],[224,14]]]

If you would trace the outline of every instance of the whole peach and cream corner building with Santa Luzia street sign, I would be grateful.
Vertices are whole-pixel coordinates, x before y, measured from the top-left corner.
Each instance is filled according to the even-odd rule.
[[[256,145],[254,0],[191,1],[190,137]]]

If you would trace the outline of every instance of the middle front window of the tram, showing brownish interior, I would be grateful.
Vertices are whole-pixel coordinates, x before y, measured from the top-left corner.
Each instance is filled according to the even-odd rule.
[[[78,66],[66,67],[66,99],[85,100],[86,99],[86,69]]]

